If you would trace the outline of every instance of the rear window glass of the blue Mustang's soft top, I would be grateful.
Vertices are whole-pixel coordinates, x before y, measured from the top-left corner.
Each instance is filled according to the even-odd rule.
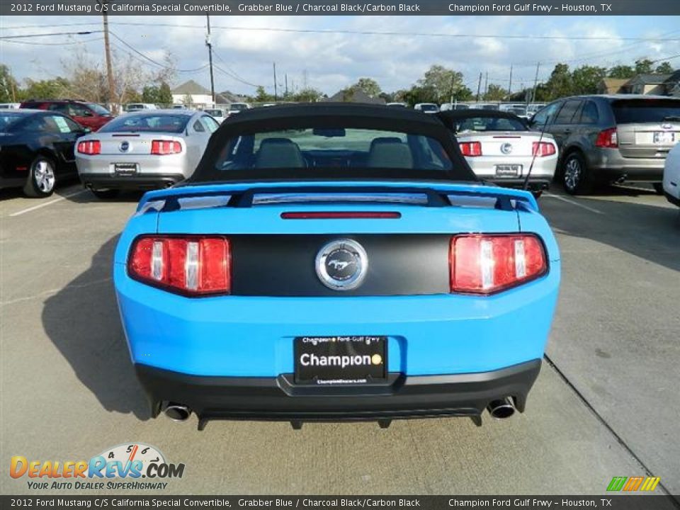
[[[200,171],[208,168],[208,171]],[[193,181],[357,177],[382,172],[426,179],[449,177],[451,160],[430,137],[358,128],[256,132],[227,140],[214,164],[199,167]],[[427,175],[429,174],[429,175]]]

